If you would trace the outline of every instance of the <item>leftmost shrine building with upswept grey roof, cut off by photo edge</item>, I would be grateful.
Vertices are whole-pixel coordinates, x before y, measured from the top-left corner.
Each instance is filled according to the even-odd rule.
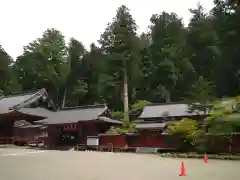
[[[0,99],[0,143],[11,140],[14,136],[14,123],[19,120],[26,120],[33,123],[44,117],[21,112],[22,108],[43,108],[54,110],[53,103],[48,99],[45,89],[22,93]]]

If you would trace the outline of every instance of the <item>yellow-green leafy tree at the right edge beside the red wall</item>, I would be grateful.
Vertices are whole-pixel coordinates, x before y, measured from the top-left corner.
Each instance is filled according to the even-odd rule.
[[[232,150],[232,136],[239,131],[239,98],[224,99],[215,102],[210,116],[205,121],[207,132],[207,142],[211,147],[216,148],[216,144],[224,141],[228,143],[228,151]]]

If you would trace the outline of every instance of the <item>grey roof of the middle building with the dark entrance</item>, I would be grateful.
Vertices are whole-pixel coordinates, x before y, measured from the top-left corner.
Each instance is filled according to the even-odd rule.
[[[67,124],[78,121],[97,120],[106,110],[106,105],[64,108],[52,113],[48,118],[37,122],[44,124]]]

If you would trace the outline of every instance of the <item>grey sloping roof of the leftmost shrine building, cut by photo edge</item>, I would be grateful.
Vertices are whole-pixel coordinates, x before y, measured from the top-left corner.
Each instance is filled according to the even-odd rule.
[[[34,92],[3,97],[0,99],[0,114],[9,113],[13,110],[27,107],[45,94],[45,89],[41,89]]]

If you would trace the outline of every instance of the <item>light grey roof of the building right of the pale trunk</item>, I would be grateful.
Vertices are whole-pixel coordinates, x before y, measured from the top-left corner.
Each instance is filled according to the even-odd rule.
[[[198,114],[203,115],[204,112]],[[166,104],[149,104],[143,108],[139,119],[147,118],[163,118],[167,117],[186,117],[198,115],[195,112],[189,111],[189,106],[186,103],[166,103]]]

